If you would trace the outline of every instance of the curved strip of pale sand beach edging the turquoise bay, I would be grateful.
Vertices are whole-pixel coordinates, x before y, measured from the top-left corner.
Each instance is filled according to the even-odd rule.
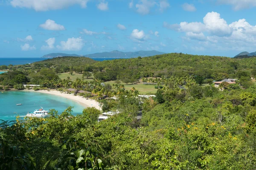
[[[93,99],[85,99],[81,96],[74,96],[73,94],[66,94],[66,93],[61,93],[60,91],[54,91],[54,90],[50,90],[50,91],[45,91],[45,90],[39,90],[39,91],[34,91],[34,90],[23,90],[23,91],[27,91],[27,92],[37,92],[37,93],[44,93],[44,94],[51,94],[51,95],[55,95],[55,96],[61,96],[64,97],[66,99],[70,99],[73,100],[75,102],[78,102],[80,105],[84,106],[85,108],[96,108],[98,110],[102,110],[101,107],[99,107],[99,102],[93,100]]]

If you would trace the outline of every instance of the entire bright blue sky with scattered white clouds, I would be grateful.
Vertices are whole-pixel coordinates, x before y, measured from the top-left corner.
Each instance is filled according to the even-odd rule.
[[[256,51],[256,0],[0,0],[0,57]]]

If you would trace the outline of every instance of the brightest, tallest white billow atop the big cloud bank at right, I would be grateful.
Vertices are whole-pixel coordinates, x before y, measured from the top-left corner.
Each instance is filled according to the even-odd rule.
[[[226,36],[231,33],[227,22],[217,12],[208,12],[204,17],[204,25],[212,35]]]

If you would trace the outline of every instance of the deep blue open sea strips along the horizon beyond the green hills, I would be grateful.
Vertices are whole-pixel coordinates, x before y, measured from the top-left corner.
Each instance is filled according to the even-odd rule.
[[[0,65],[23,65],[32,62],[42,61],[47,58],[0,58]],[[96,61],[112,60],[116,58],[92,58]]]

